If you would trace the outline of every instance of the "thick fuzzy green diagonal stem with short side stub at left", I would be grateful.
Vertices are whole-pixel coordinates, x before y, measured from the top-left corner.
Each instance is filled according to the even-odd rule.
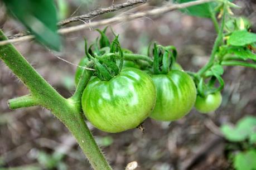
[[[2,30],[0,30],[0,40],[7,40]],[[95,170],[111,170],[112,168],[104,158],[84,121],[80,102],[78,101],[79,96],[81,96],[81,90],[75,93],[74,98],[63,98],[11,44],[0,46],[0,58],[27,86],[31,93],[30,95],[9,100],[10,108],[16,109],[40,105],[49,109],[74,135]],[[88,71],[84,71],[82,76],[85,78],[83,80],[85,83],[90,79]]]

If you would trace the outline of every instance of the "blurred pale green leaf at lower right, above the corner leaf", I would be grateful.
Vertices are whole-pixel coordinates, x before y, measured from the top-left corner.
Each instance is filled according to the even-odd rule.
[[[226,139],[231,142],[241,142],[250,135],[255,134],[256,118],[253,116],[247,116],[239,120],[236,127],[231,127],[230,125],[222,125],[221,132],[223,132]],[[254,138],[254,137],[253,137]]]

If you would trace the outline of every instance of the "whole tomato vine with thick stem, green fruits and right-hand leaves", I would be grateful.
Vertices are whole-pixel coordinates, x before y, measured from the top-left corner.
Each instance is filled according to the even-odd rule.
[[[85,55],[75,75],[76,91],[69,99],[57,93],[13,45],[1,46],[1,59],[31,93],[9,100],[9,108],[39,105],[51,110],[76,137],[94,169],[112,169],[83,114],[96,128],[116,133],[137,127],[148,116],[163,121],[180,119],[193,106],[201,113],[209,113],[221,104],[223,66],[256,69],[256,34],[249,31],[247,20],[231,16],[235,4],[217,2],[217,6],[207,3],[206,13],[200,13],[201,17],[211,18],[218,36],[209,61],[199,71],[183,71],[176,62],[174,46],[154,42],[148,45],[147,54],[133,54],[121,47],[115,33],[110,41],[106,27],[96,30],[100,37],[89,47],[85,40]],[[0,39],[7,40],[1,30]]]

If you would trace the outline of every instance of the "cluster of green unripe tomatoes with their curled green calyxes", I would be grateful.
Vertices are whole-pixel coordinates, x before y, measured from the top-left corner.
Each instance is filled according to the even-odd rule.
[[[100,47],[96,49],[104,50],[94,52],[90,47],[75,76],[78,85],[83,66],[88,66],[89,61],[95,63],[96,73],[83,91],[81,106],[86,119],[96,128],[117,133],[138,127],[148,117],[172,121],[188,114],[193,106],[201,113],[219,108],[220,92],[199,96],[192,77],[175,62],[177,53],[172,46],[154,45],[153,60],[142,66],[142,58],[137,60],[136,54],[123,61],[132,52],[118,47],[117,38],[109,43],[104,32],[100,33]],[[122,58],[115,60],[116,55]]]

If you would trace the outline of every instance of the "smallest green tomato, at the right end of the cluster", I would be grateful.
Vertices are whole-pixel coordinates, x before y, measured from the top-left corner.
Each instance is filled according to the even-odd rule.
[[[197,96],[195,108],[200,113],[209,113],[219,108],[222,101],[221,93],[218,91],[214,94],[209,94],[205,98]]]

